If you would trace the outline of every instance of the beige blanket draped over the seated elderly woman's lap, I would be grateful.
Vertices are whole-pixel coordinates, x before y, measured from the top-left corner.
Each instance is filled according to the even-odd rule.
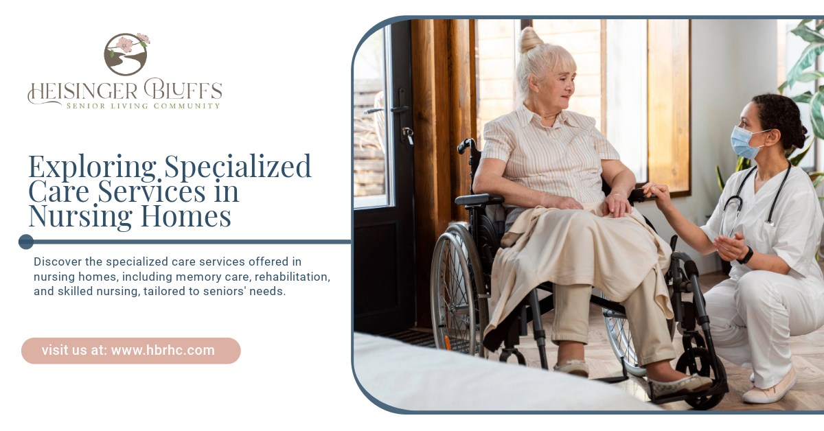
[[[579,209],[531,208],[503,235],[492,265],[492,295],[485,334],[494,330],[538,284],[590,284],[621,302],[650,269],[657,274],[655,302],[672,319],[662,269],[672,250],[633,208],[622,218],[602,217],[603,202]]]

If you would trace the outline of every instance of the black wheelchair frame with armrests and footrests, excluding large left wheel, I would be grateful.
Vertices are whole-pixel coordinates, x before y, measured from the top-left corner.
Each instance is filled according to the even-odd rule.
[[[472,138],[468,138],[458,145],[457,151],[462,155],[466,152],[467,148],[470,149],[469,164],[471,166],[471,181],[474,181],[475,171],[480,164],[481,152],[476,148],[475,140]],[[608,189],[606,183],[604,183],[604,187],[605,189]],[[634,205],[635,202],[644,202],[645,199],[647,198],[644,197],[644,194],[640,189],[633,190],[630,194],[630,204],[632,205]],[[496,329],[491,330],[489,334],[483,336],[483,330],[485,330],[483,326],[488,324],[489,316],[489,310],[488,307],[485,307],[487,305],[485,302],[487,298],[489,298],[490,293],[489,288],[492,261],[494,260],[494,254],[498,251],[500,237],[503,236],[503,227],[499,227],[497,229],[495,228],[494,222],[490,221],[489,218],[486,217],[485,208],[487,205],[503,204],[503,201],[503,196],[499,194],[475,194],[472,190],[472,186],[470,185],[470,194],[458,197],[455,199],[455,203],[464,206],[466,210],[469,211],[469,237],[471,238],[466,238],[466,233],[460,233],[460,228],[451,228],[447,229],[447,232],[445,232],[442,235],[442,238],[438,240],[438,245],[440,246],[442,241],[447,240],[458,244],[456,242],[455,235],[460,233],[458,236],[461,237],[461,242],[463,243],[461,250],[469,255],[468,257],[470,258],[464,258],[464,260],[461,261],[461,265],[462,270],[466,274],[474,273],[471,275],[471,278],[475,279],[475,286],[465,287],[465,289],[471,291],[470,293],[472,298],[471,300],[467,298],[467,301],[471,303],[463,306],[466,308],[463,312],[471,315],[469,316],[469,321],[472,326],[477,326],[476,321],[481,321],[480,344],[482,344],[471,353],[479,353],[480,356],[483,357],[485,356],[484,349],[496,351],[503,342],[503,350],[500,354],[499,361],[507,362],[508,358],[514,355],[519,364],[526,366],[526,359],[520,352],[518,352],[516,346],[520,342],[520,337],[527,336],[527,325],[531,321],[533,337],[536,340],[538,353],[541,358],[541,368],[549,370],[550,368],[549,363],[547,362],[545,349],[546,334],[545,330],[542,328],[541,315],[552,310],[555,307],[555,304],[554,298],[551,294],[549,297],[545,297],[543,300],[539,301],[537,291],[538,289],[541,289],[552,293],[552,283],[541,283],[539,286],[536,286],[536,288],[533,288],[527,297],[525,297],[517,306],[515,311],[511,312],[509,316],[504,318]],[[647,223],[650,227],[652,227],[652,224],[649,223],[648,220]],[[450,231],[452,231],[452,233],[450,233]],[[466,232],[466,230],[463,230],[463,232]],[[470,239],[472,244],[468,244],[466,239]],[[673,249],[675,248],[676,241],[677,236],[673,236],[671,240],[671,246]],[[470,250],[470,248],[473,250]],[[436,270],[441,270],[438,261],[438,259],[442,257],[441,253],[442,249],[439,249],[438,246],[436,246],[436,252],[433,256],[433,267],[431,270],[433,271],[433,332],[438,347],[443,348],[442,344],[444,344],[444,342],[438,343],[438,337],[441,336],[440,334],[442,334],[441,331],[445,327],[445,324],[444,322],[439,321],[436,310],[437,307],[441,306],[440,301],[443,298],[436,297],[437,293],[434,291]],[[475,255],[472,255],[473,253],[475,253]],[[472,268],[470,270],[469,268],[474,266],[478,260],[480,260],[480,266],[482,267],[481,270],[478,271],[476,268]],[[475,262],[475,264],[473,264],[473,262]],[[683,268],[681,268],[681,263],[683,263]],[[478,278],[480,278],[480,280],[478,280]],[[465,280],[464,283],[471,283],[472,279]],[[684,345],[684,354],[681,354],[681,357],[678,359],[676,369],[679,372],[689,371],[689,374],[697,373],[704,377],[710,377],[710,371],[712,371],[714,372],[714,379],[713,385],[709,388],[709,390],[693,394],[656,396],[653,392],[652,386],[649,386],[648,395],[650,401],[655,404],[686,401],[696,410],[711,409],[723,400],[724,394],[726,394],[729,390],[726,372],[723,368],[721,360],[715,354],[712,336],[709,332],[709,317],[706,314],[704,296],[703,293],[701,293],[700,284],[698,283],[698,269],[695,266],[695,262],[691,260],[689,255],[678,251],[673,251],[670,267],[667,269],[665,279],[667,281],[667,287],[671,291],[670,300],[675,313],[672,326],[675,326],[678,322],[681,322],[681,328],[683,330],[682,342]],[[482,292],[479,292],[479,290],[482,290]],[[682,302],[681,293],[693,293],[693,302]],[[471,307],[473,307],[475,303],[479,304],[479,307],[475,310],[475,312],[471,312]],[[604,297],[592,295],[590,297],[590,303],[603,309],[605,319],[607,317],[616,317],[620,319],[626,318],[625,308],[617,302],[612,302]],[[451,307],[454,309],[454,304],[451,304]],[[695,327],[696,321],[701,326],[703,337]],[[473,340],[475,340],[475,328],[473,327],[471,329],[471,336],[473,337]],[[610,328],[607,327],[607,330],[610,330]],[[447,336],[446,339],[445,344],[447,344],[447,349],[449,349],[449,336]],[[611,340],[611,342],[614,343],[614,340]],[[695,343],[695,346],[693,346],[693,343]],[[620,355],[615,346],[613,346],[613,349],[615,350],[616,356],[620,359],[623,369],[622,376],[605,377],[598,380],[610,383],[623,382],[629,378],[626,368],[627,358]]]

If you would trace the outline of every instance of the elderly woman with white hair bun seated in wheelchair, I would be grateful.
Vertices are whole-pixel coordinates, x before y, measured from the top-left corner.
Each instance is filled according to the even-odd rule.
[[[595,119],[566,110],[575,92],[574,59],[566,49],[544,44],[531,27],[522,31],[520,50],[522,55],[516,72],[522,103],[508,115],[486,124],[483,157],[473,187],[476,193],[503,195],[507,204],[508,229],[520,223],[524,227],[518,233],[532,232],[541,226],[546,226],[547,231],[561,232],[551,237],[552,243],[536,245],[537,238],[531,237],[531,242],[526,245],[513,247],[538,246],[542,250],[560,251],[560,255],[556,253],[547,258],[555,265],[535,264],[555,267],[546,275],[548,281],[555,284],[555,323],[551,335],[553,343],[559,346],[555,370],[588,376],[584,345],[588,343],[592,285],[602,288],[610,297],[607,284],[611,283],[597,283],[610,278],[603,272],[622,270],[620,265],[610,262],[611,259],[620,261],[621,256],[599,255],[599,250],[603,250],[599,247],[609,247],[611,242],[628,247],[636,243],[646,247],[645,253],[649,254],[651,249],[652,260],[644,260],[647,262],[645,267],[633,269],[631,278],[641,280],[640,284],[634,282],[636,284],[630,286],[629,292],[614,296],[622,297],[626,307],[639,365],[646,367],[647,376],[658,395],[708,389],[711,386],[709,378],[686,376],[670,366],[670,360],[676,358],[665,315],[670,306],[666,293],[664,300],[656,300],[657,283],[663,282],[660,271],[658,274],[655,271],[659,257],[655,253],[656,247],[665,249],[660,255],[666,255],[668,260],[671,251],[666,244],[659,246],[658,242],[664,241],[658,241],[660,237],[645,225],[639,226],[643,224],[643,218],[638,223],[630,217],[634,208],[627,197],[635,185],[633,172],[620,162],[616,149],[594,127]],[[611,186],[609,196],[602,192],[602,178]],[[537,212],[545,211],[545,208],[556,209]],[[635,217],[640,217],[637,211]],[[527,226],[527,223],[531,225]],[[507,239],[504,237],[504,246],[511,246],[512,241],[507,244]],[[496,264],[506,260],[510,250],[499,251]],[[542,252],[534,249],[531,257],[544,259],[536,256]],[[525,265],[523,255],[510,261],[517,259],[521,266]],[[494,268],[494,291],[495,280],[499,284],[505,283],[500,279],[507,277],[508,264],[502,265],[497,274]],[[598,265],[612,266],[598,268]],[[567,274],[570,270],[594,275]],[[527,277],[517,269],[510,273],[512,277]],[[614,277],[613,281],[620,283],[620,279],[623,277]],[[569,280],[574,283],[564,283]],[[497,308],[494,316],[502,313]],[[669,314],[672,315],[671,308]]]

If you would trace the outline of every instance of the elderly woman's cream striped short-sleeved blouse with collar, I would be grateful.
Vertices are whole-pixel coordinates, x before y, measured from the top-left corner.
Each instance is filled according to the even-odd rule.
[[[562,110],[547,127],[541,125],[541,115],[524,105],[485,125],[481,159],[485,158],[506,162],[507,180],[581,204],[604,200],[601,161],[620,160],[592,117]],[[507,227],[526,209],[504,206]]]

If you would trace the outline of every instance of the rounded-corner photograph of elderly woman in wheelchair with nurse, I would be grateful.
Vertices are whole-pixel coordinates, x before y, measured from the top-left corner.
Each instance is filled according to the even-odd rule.
[[[824,21],[414,18],[353,54],[364,396],[824,410]]]

